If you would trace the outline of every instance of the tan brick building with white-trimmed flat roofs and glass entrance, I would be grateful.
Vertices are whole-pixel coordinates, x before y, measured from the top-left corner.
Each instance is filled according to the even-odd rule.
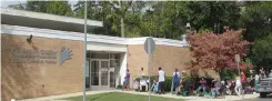
[[[1,20],[2,101],[82,91],[83,19],[2,9]],[[88,20],[90,31],[102,26],[101,21]],[[122,84],[127,69],[133,78],[141,68],[148,74],[145,39],[88,34],[87,90]],[[187,41],[160,38],[154,41],[152,74],[158,67],[167,75],[175,68],[184,70],[190,60]]]

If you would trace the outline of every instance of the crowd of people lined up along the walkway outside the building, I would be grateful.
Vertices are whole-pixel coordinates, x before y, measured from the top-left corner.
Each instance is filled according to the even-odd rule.
[[[133,83],[133,89],[138,91],[148,91],[149,79],[144,79],[143,68],[141,68],[142,74],[140,82]],[[159,67],[158,78],[151,82],[151,91],[158,94],[165,93],[165,73],[161,67]],[[213,78],[210,82],[202,77],[198,82],[194,80],[187,79],[188,75],[185,71],[179,72],[178,69],[174,70],[172,74],[172,85],[171,85],[171,93],[172,94],[197,94],[204,95],[204,97],[223,97],[224,94],[235,94],[235,95],[243,95],[243,94],[251,94],[258,93],[258,85],[259,80],[265,78],[264,69],[261,68],[259,72],[251,71],[249,78],[244,71],[241,71],[234,80],[221,80],[220,77]],[[123,89],[129,89],[130,82],[130,73],[129,70],[127,71]],[[195,88],[198,87],[198,88]],[[197,91],[197,92],[194,92]],[[201,92],[202,91],[202,92]],[[185,94],[184,94],[185,93]]]

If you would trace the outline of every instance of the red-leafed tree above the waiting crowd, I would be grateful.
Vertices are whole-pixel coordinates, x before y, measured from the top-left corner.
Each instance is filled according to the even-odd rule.
[[[241,59],[246,57],[250,44],[242,40],[242,30],[233,31],[229,29],[223,34],[189,33],[188,41],[193,58],[188,62],[188,68],[192,71],[212,69],[218,73],[223,69],[238,69],[234,55],[240,54]],[[241,70],[251,67],[251,64],[243,61],[240,62]]]

